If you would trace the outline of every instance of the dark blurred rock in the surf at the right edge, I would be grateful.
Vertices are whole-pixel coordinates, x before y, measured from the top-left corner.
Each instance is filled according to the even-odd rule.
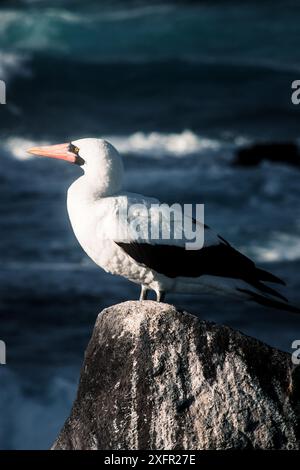
[[[300,166],[298,147],[294,143],[253,144],[237,151],[235,165],[256,166],[263,160]]]

